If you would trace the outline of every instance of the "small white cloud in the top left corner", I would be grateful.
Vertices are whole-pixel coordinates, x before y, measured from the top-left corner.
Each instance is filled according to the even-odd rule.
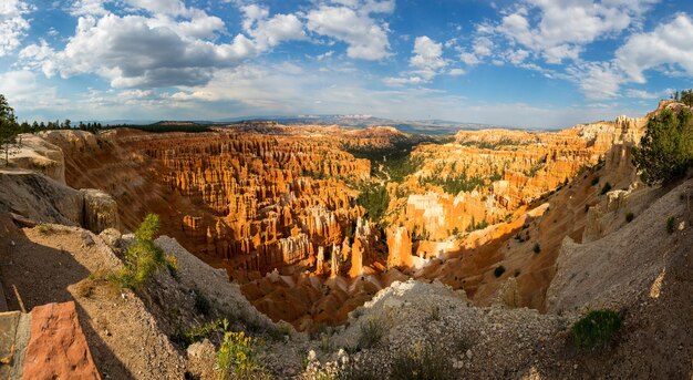
[[[32,7],[23,0],[2,0],[0,2],[0,57],[13,52],[21,45],[30,24],[27,14]]]

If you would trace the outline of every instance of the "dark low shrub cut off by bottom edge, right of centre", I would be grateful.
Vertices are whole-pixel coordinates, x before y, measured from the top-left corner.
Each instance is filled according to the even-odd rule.
[[[402,380],[452,380],[457,379],[458,373],[441,349],[414,345],[393,359],[390,377]]]

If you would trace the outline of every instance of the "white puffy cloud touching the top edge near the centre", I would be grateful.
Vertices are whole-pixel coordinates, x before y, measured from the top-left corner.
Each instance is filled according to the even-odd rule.
[[[389,27],[373,14],[393,11],[394,0],[340,0],[320,4],[306,19],[310,31],[346,43],[349,58],[377,61],[391,55]]]

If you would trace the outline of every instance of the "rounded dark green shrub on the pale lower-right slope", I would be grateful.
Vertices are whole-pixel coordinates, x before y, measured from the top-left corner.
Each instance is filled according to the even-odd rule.
[[[572,325],[570,336],[578,348],[598,349],[611,343],[621,328],[621,317],[612,310],[592,310]]]

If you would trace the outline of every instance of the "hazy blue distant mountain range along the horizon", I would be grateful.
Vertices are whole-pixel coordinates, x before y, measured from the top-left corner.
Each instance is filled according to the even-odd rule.
[[[369,127],[374,125],[394,126],[404,133],[418,133],[418,134],[452,134],[461,130],[476,131],[486,129],[509,129],[520,130],[519,127],[506,126],[506,125],[493,125],[480,123],[462,123],[445,120],[425,120],[425,121],[408,121],[408,120],[393,120],[382,119],[372,115],[297,115],[297,116],[246,116],[246,117],[227,117],[215,121],[144,121],[144,120],[111,120],[102,121],[104,125],[224,125],[235,124],[239,122],[252,122],[252,121],[272,121],[285,125],[297,124],[324,124],[324,125],[340,125],[346,127]]]

